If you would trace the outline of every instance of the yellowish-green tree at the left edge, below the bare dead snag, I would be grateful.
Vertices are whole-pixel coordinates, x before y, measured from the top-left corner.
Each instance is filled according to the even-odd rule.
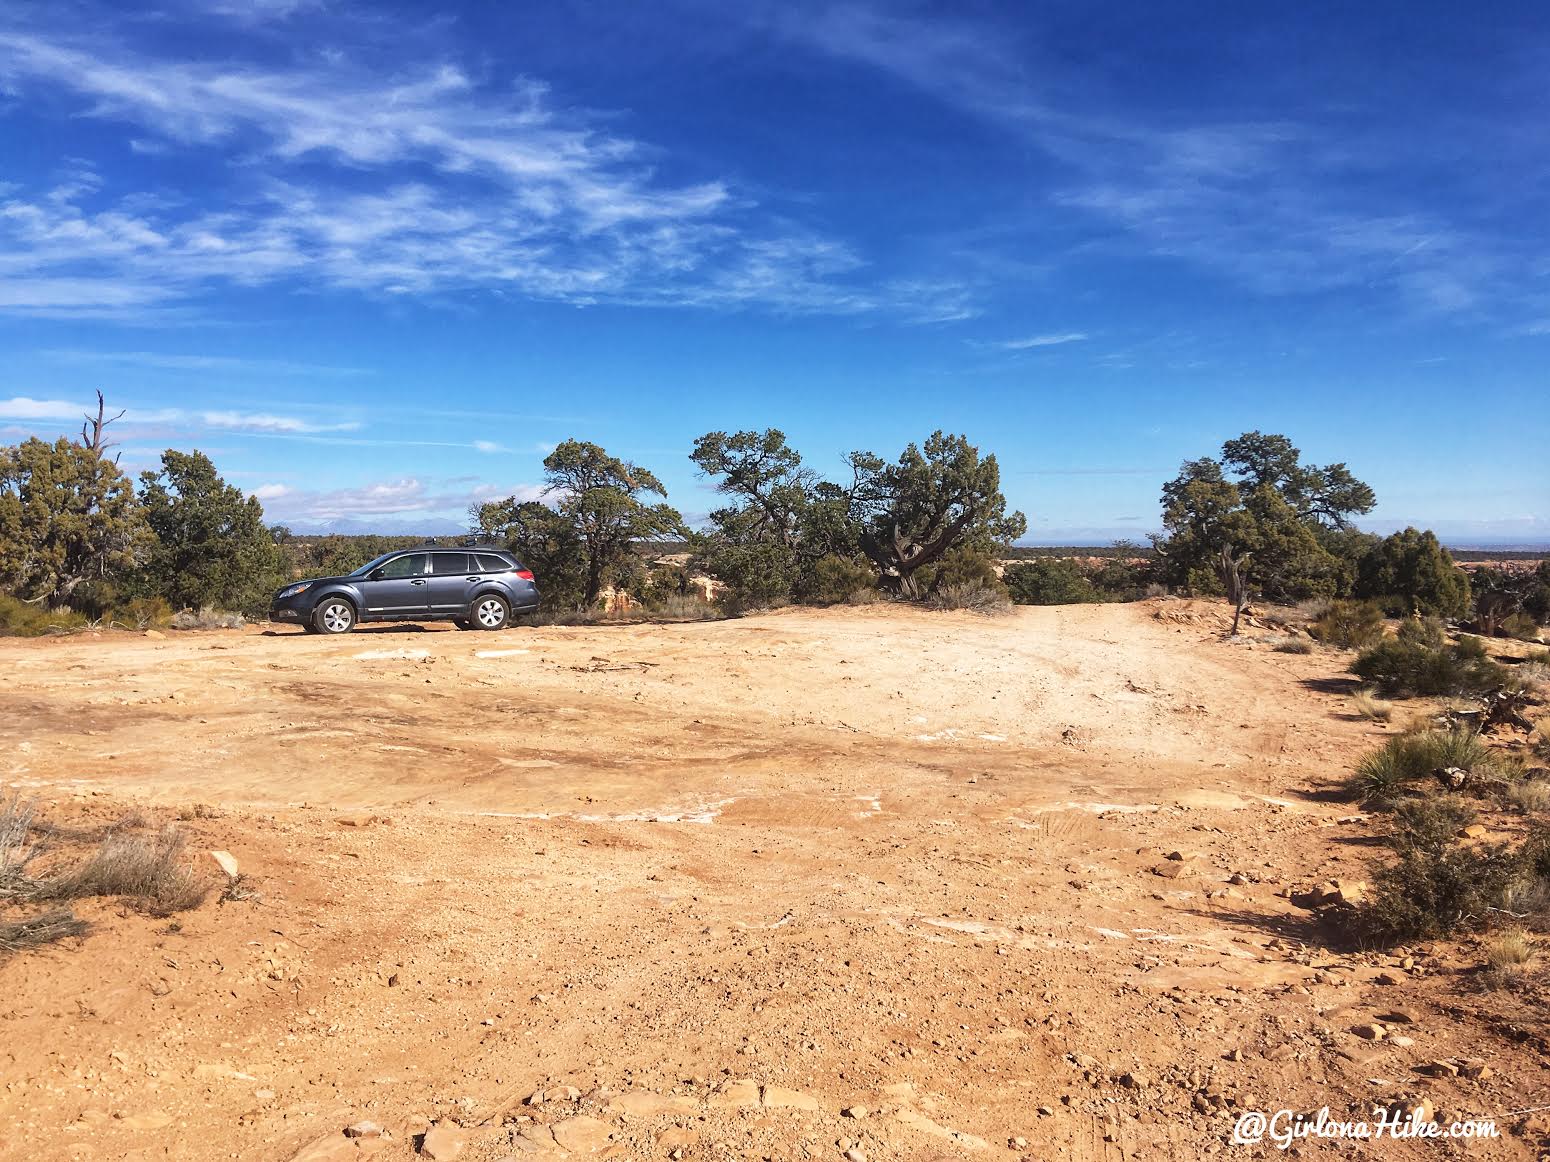
[[[135,490],[71,440],[0,448],[0,587],[43,606],[132,570],[149,539]]]

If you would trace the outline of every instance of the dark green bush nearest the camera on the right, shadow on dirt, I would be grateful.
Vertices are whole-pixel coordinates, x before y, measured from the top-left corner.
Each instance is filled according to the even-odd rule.
[[[1528,874],[1500,844],[1406,847],[1373,877],[1358,930],[1378,944],[1480,931]]]

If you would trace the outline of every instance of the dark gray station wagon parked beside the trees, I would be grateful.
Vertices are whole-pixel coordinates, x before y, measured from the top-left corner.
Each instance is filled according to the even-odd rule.
[[[361,621],[451,621],[502,629],[538,609],[533,573],[502,548],[400,548],[346,576],[296,581],[276,590],[270,621],[310,634],[349,634]]]

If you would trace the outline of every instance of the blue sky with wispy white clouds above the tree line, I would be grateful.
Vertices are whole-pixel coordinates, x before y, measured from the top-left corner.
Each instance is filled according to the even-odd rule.
[[[1550,14],[11,0],[0,440],[127,407],[274,521],[450,528],[595,440],[713,505],[935,428],[1031,539],[1249,428],[1550,541]]]

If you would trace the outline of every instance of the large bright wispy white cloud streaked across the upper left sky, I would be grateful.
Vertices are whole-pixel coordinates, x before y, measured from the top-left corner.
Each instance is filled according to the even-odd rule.
[[[90,175],[0,198],[0,310],[155,319],[211,285],[477,290],[574,304],[963,318],[958,285],[885,279],[722,180],[443,64],[383,77],[147,56],[107,36],[0,31],[0,77],[138,138],[248,166],[219,206],[113,200]]]

